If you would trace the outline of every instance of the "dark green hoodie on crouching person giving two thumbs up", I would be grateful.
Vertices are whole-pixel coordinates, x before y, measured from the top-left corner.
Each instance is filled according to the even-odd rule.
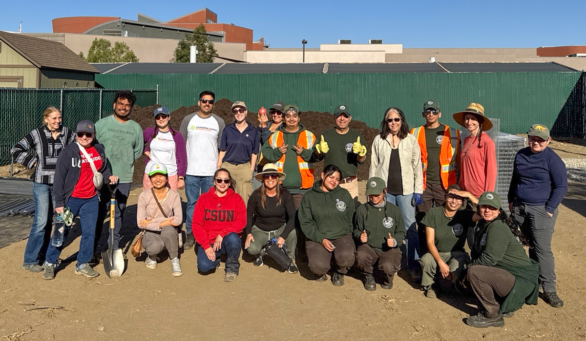
[[[386,206],[379,208],[374,207],[369,201],[356,209],[354,237],[359,244],[362,244],[360,235],[362,235],[364,229],[366,229],[366,235],[368,236],[366,244],[369,244],[377,251],[391,249],[387,246],[389,233],[397,242],[394,247],[403,245],[403,239],[405,239],[406,235],[401,210],[390,202],[387,202]]]

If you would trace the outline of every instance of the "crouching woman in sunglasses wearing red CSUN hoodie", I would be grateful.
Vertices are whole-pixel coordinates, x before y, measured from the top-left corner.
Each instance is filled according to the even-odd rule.
[[[214,185],[197,200],[192,230],[197,242],[197,270],[207,274],[220,265],[226,255],[224,281],[236,281],[240,268],[240,235],[246,226],[246,205],[234,191],[230,172],[220,168],[213,175]]]

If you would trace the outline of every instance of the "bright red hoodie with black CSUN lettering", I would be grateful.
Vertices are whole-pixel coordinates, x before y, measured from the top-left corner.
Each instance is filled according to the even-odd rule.
[[[226,195],[220,198],[215,188],[202,194],[193,209],[193,236],[204,250],[212,247],[216,236],[225,237],[230,232],[241,236],[246,226],[246,205],[240,195],[228,188]]]

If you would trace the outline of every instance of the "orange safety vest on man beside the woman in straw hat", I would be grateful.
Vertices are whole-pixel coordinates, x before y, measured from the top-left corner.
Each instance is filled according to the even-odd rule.
[[[421,166],[423,167],[423,189],[425,190],[427,181],[427,145],[425,143],[425,126],[411,129],[411,134],[415,136],[421,149]],[[441,182],[444,189],[447,190],[449,185],[456,183],[456,154],[460,149],[460,131],[449,126],[445,126],[444,137],[441,142],[440,166]]]

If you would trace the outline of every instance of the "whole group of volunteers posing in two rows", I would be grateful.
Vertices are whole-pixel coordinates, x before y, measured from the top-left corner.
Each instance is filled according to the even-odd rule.
[[[35,168],[36,211],[22,268],[55,277],[63,247],[49,242],[56,212],[65,222],[64,238],[79,216],[75,273],[96,277],[91,264],[99,262],[108,188],[118,183],[114,244],[108,240],[117,248],[133,165],[144,154],[136,220],[148,268],[167,250],[172,275],[180,276],[179,250],[195,246],[200,273],[213,273],[224,255],[224,281],[233,282],[243,248],[254,266],[271,259],[292,274],[299,272],[297,250],[315,281],[328,280],[329,273],[333,285],[343,285],[355,267],[373,291],[377,283],[393,287],[405,244],[408,273],[425,297],[453,290],[478,298],[479,312],[468,325],[504,325],[503,317],[523,304],[537,304],[540,288],[548,304],[563,305],[551,239],[567,174],[547,147],[546,126],[531,126],[529,147],[515,157],[507,215],[494,191],[495,143],[486,133],[492,123],[480,104],[453,114],[468,130],[464,139],[440,123],[437,101],[424,102],[425,124],[411,130],[403,111],[390,107],[369,150],[349,127],[345,105],[334,110],[335,126],[316,136],[301,124],[296,105],[275,102],[254,127],[243,101],[231,106],[228,125],[213,113],[214,101],[212,91],[203,91],[199,109],[179,129],[172,128],[167,108],[156,108],[153,126],[144,131],[130,119],[136,102],[130,91],[115,94],[113,115],[95,125],[83,120],[75,132],[62,125],[59,109],[47,108],[42,126],[11,150],[18,163]],[[367,202],[360,203],[357,170],[369,151]],[[325,166],[314,174],[313,163],[321,160]]]

